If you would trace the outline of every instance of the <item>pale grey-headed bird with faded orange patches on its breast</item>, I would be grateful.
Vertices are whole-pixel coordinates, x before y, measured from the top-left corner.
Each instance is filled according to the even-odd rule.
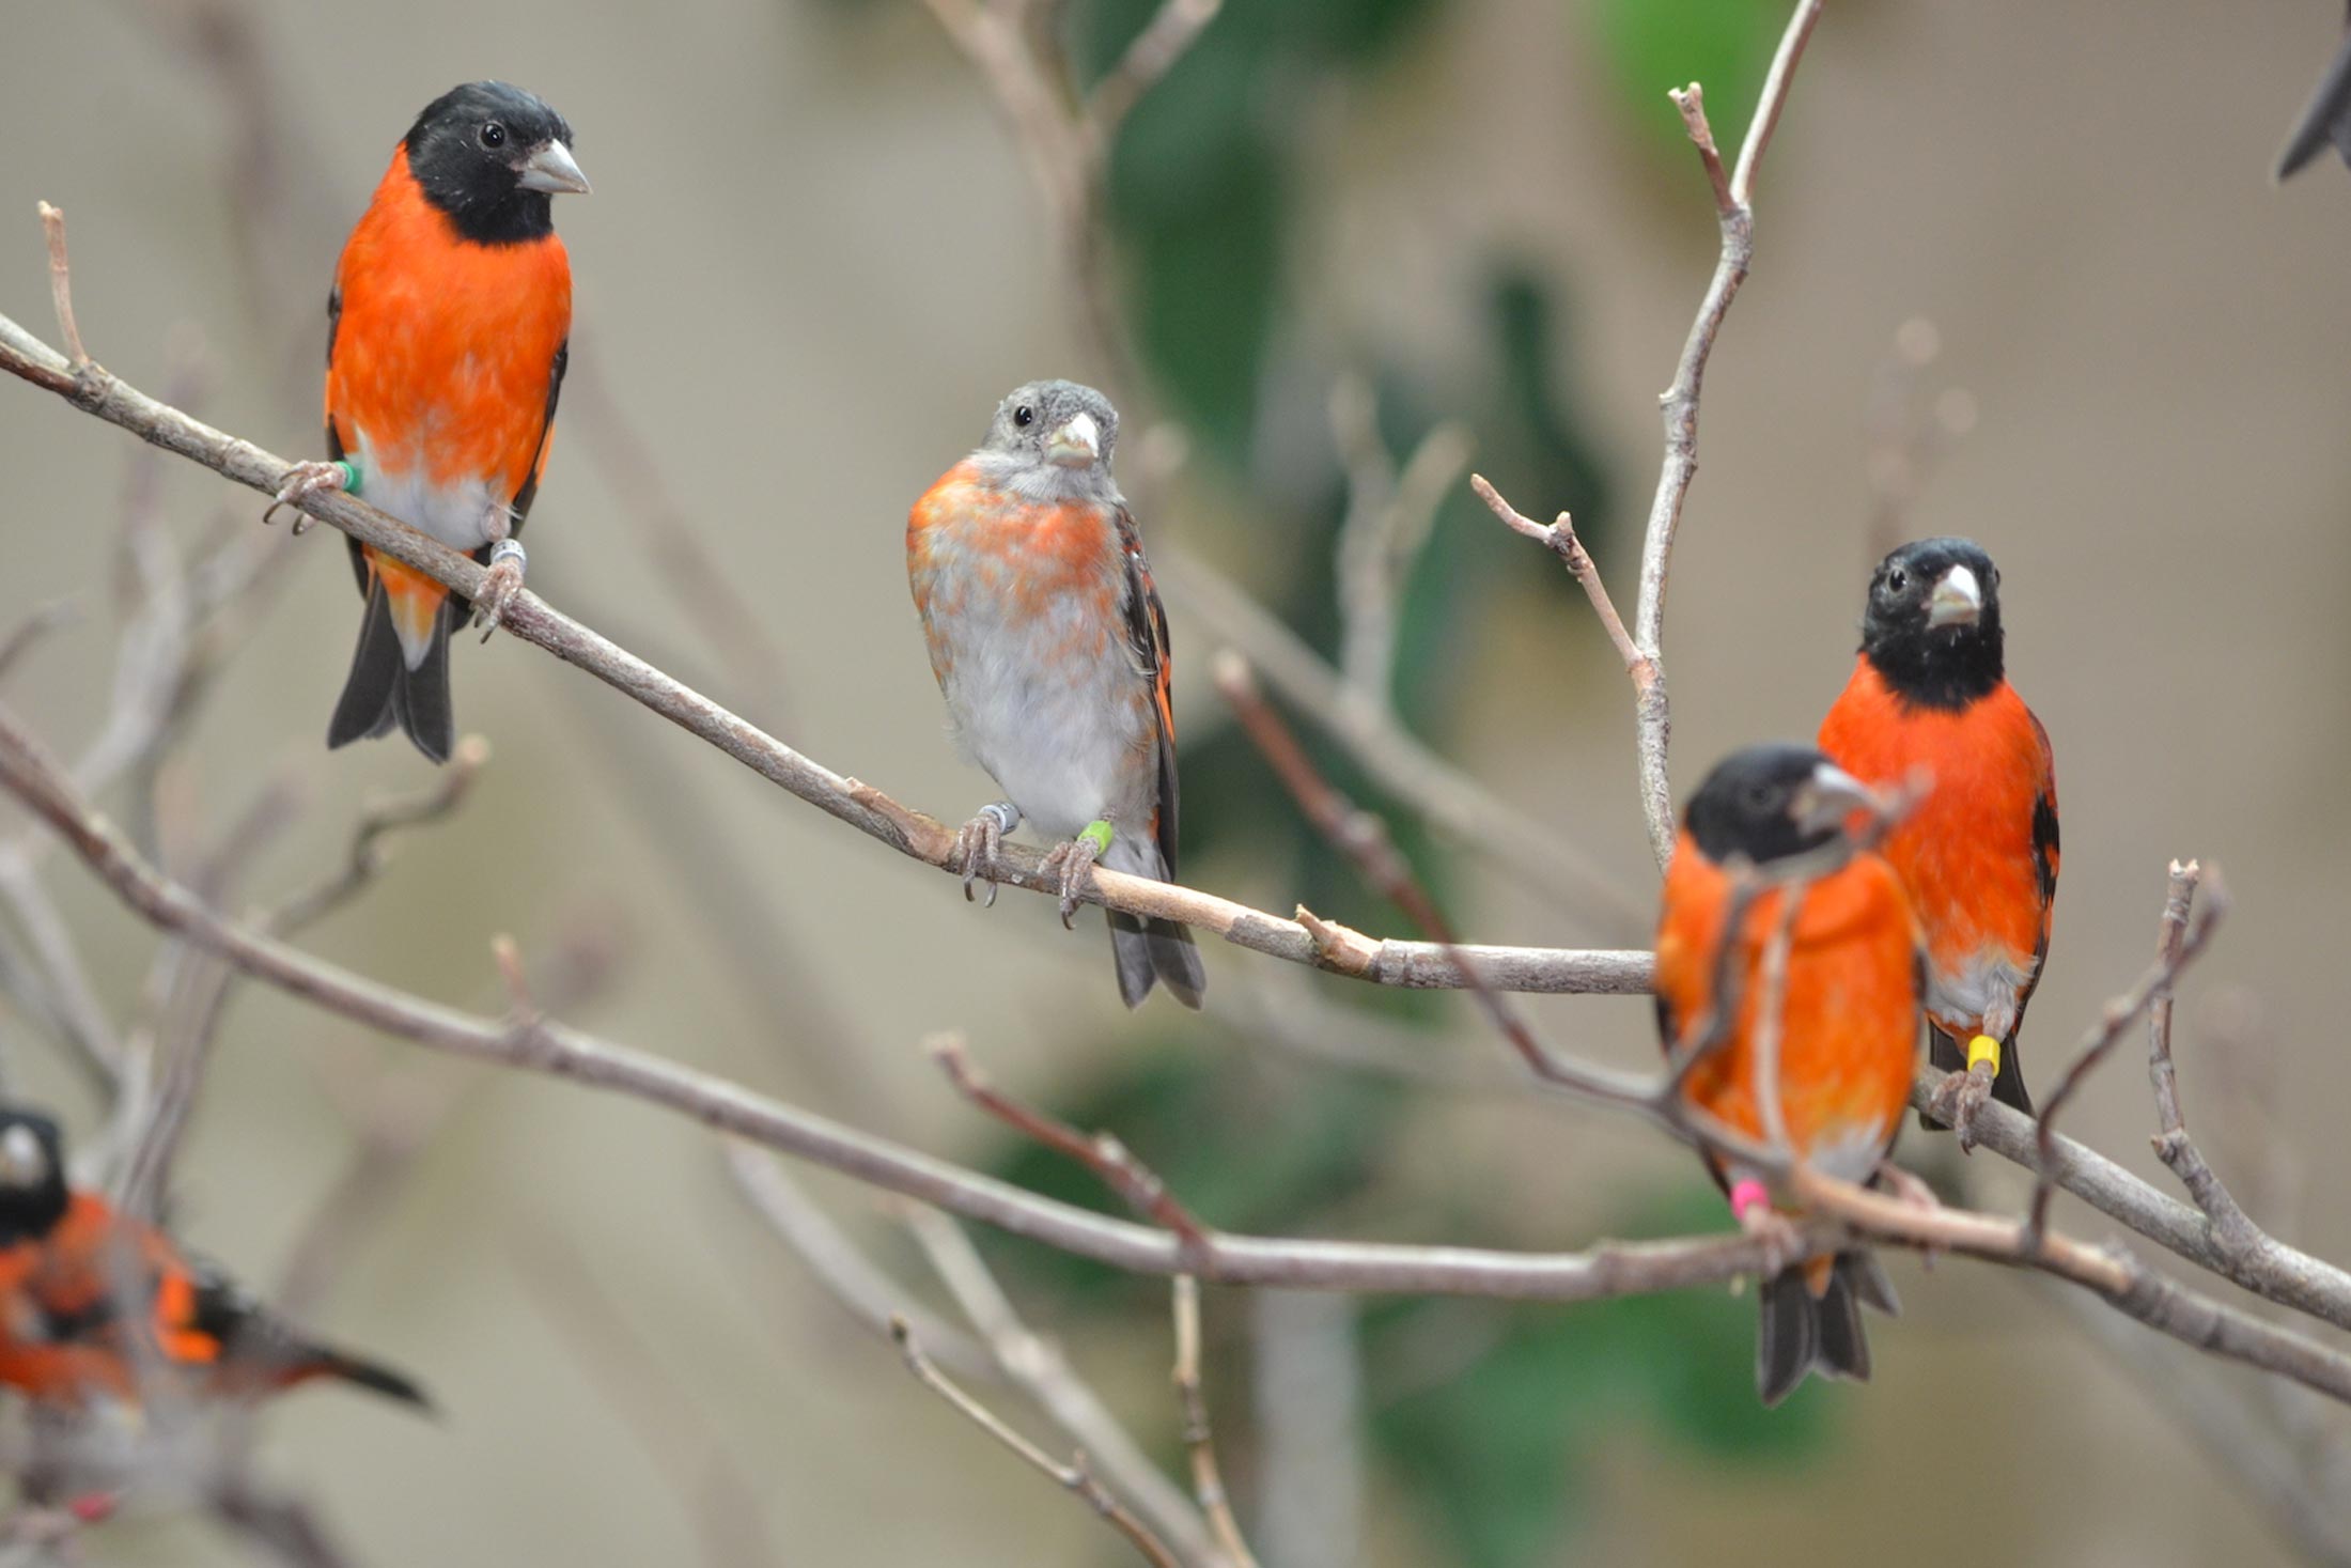
[[[973,877],[992,882],[1004,835],[1027,818],[1060,839],[1049,865],[1065,926],[1096,860],[1176,879],[1168,621],[1110,477],[1117,440],[1107,397],[1032,381],[905,524],[915,609],[957,745],[1006,795],[957,837],[964,896]],[[1112,910],[1110,945],[1126,1006],[1159,980],[1199,1006],[1206,976],[1190,931]]]

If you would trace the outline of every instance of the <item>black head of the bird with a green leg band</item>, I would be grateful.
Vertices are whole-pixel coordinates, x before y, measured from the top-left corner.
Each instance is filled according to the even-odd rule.
[[[505,82],[465,82],[433,99],[404,146],[426,200],[480,244],[545,237],[555,233],[555,193],[588,193],[571,160],[571,125]]]

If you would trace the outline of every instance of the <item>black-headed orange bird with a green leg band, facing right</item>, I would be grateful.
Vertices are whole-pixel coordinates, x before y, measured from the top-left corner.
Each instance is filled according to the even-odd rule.
[[[277,494],[350,489],[491,569],[482,625],[522,588],[522,529],[555,433],[571,339],[571,261],[557,190],[588,190],[571,127],[505,82],[433,103],[393,150],[327,296],[327,463]],[[301,527],[301,524],[296,524]],[[449,757],[449,632],[473,607],[350,541],[367,595],[327,745],[397,724]],[[487,637],[489,630],[482,635]]]

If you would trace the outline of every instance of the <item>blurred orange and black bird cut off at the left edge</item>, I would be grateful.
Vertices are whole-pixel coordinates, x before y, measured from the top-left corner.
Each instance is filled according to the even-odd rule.
[[[35,1403],[247,1399],[313,1378],[426,1406],[400,1373],[306,1340],[212,1265],[66,1187],[56,1121],[0,1110],[0,1385]]]

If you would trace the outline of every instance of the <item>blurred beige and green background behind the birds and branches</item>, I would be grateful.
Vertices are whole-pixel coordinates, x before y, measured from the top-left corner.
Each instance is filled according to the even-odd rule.
[[[1079,80],[1147,12],[1067,0]],[[1702,80],[1728,153],[1777,0],[1227,0],[1112,150],[1105,273],[1131,367],[1098,357],[985,80],[915,0],[14,0],[7,19],[0,308],[42,336],[38,197],[71,216],[101,362],[313,454],[334,256],[390,146],[444,87],[515,80],[574,122],[595,181],[557,205],[576,334],[529,529],[550,602],[962,820],[994,790],[943,733],[905,508],[1011,386],[1098,378],[1128,411],[1121,473],[1171,599],[1185,879],[1404,933],[1211,691],[1206,656],[1234,637],[1211,614],[1223,574],[1599,867],[1599,891],[1566,886],[1526,846],[1429,832],[1326,750],[1467,936],[1643,940],[1622,670],[1559,564],[1462,473],[1538,517],[1570,508],[1629,614],[1655,395],[1716,254],[1665,89]],[[2285,188],[2266,174],[2337,24],[2318,0],[1831,5],[1707,378],[1667,658],[1688,788],[1737,743],[1813,731],[1886,543],[1980,538],[2064,799],[2036,1081],[2146,964],[2165,860],[2224,865],[2238,910],[2182,1001],[2189,1117],[2257,1218],[2344,1258],[2351,1215],[2316,1199],[2351,1180],[2330,1001],[2351,919],[2351,186],[2332,158]],[[0,625],[59,595],[85,611],[7,703],[71,757],[118,696],[141,562],[259,536],[261,503],[14,383],[0,470]],[[1342,646],[1338,562],[1349,498],[1378,512],[1396,470],[1427,534],[1401,531],[1382,658]],[[748,632],[705,569],[748,599]],[[320,745],[357,625],[343,543],[320,529],[259,571],[249,609],[205,632],[212,675],[165,759],[108,795],[183,872],[268,818],[235,905],[315,882],[364,802],[433,783],[400,743]],[[964,1030],[999,1081],[1114,1131],[1220,1227],[1580,1248],[1728,1225],[1681,1150],[1516,1091],[1458,999],[1211,945],[1204,1018],[1164,999],[1126,1016],[1091,912],[1077,936],[1039,898],[980,912],[513,639],[458,649],[456,705],[491,743],[473,795],[397,839],[313,950],[496,1011],[489,943],[513,933],[545,990],[585,971],[567,1016],[588,1027],[1105,1208],[964,1105],[922,1039]],[[63,858],[45,875],[132,1020],[155,938]],[[1653,1060],[1646,999],[1535,1013],[1566,1046]],[[2132,1051],[2069,1131],[2165,1185]],[[0,1065],[96,1135],[101,1105],[7,999]],[[386,1119],[402,1147],[364,1213],[322,1222]],[[1980,1204],[2024,1192],[1949,1140],[1911,1133],[1904,1157]],[[896,1206],[799,1175],[893,1291],[952,1312]],[[324,1227],[308,1316],[435,1389],[435,1422],[341,1392],[263,1418],[261,1474],[315,1500],[353,1561],[1131,1561],[825,1295],[708,1133],[647,1105],[233,990],[174,1213],[261,1286]],[[2059,1218],[2111,1229],[2069,1199]],[[978,1244],[1176,1465],[1164,1286]],[[1871,1328],[1876,1380],[1777,1413],[1751,1392],[1751,1302],[1721,1291],[1208,1291],[1241,1521],[1267,1568],[1836,1563],[1888,1540],[1918,1563],[2292,1561],[2177,1406],[2217,1401],[2313,1469],[2339,1465],[2339,1413],[2121,1319],[2085,1326],[2034,1279],[1893,1272],[1907,1314]],[[165,1509],[85,1544],[249,1556]]]

